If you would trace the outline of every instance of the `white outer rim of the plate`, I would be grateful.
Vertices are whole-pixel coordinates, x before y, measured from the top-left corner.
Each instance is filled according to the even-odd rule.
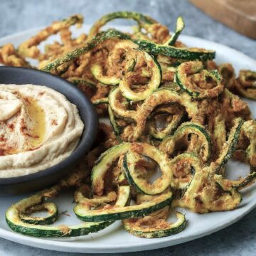
[[[88,24],[84,24],[82,26],[83,28],[87,29],[90,27]],[[107,27],[107,26],[106,26]],[[110,26],[108,26],[110,27]],[[29,33],[37,33],[42,28],[45,28],[45,26],[37,27],[37,28],[29,28],[23,31],[19,31],[17,33],[13,33],[7,36],[0,37],[0,41],[14,41],[15,37],[21,37],[25,36]],[[117,28],[119,30],[127,31],[129,29],[129,26],[114,26],[114,28]],[[256,66],[256,60],[253,58],[250,58],[249,56],[245,55],[245,53],[240,52],[239,50],[236,50],[234,48],[231,48],[229,46],[225,46],[221,43],[217,43],[215,41],[210,41],[205,38],[198,38],[196,36],[187,36],[187,35],[181,35],[180,36],[181,41],[201,41],[201,43],[210,43],[213,45],[213,47],[216,48],[216,55],[218,56],[218,47],[223,48],[223,50],[232,51],[236,57],[244,58],[245,60],[250,61],[251,63],[254,63]],[[203,47],[203,46],[202,46]],[[6,230],[5,228],[0,227],[0,237],[4,238],[6,240],[11,240],[13,242],[22,243],[24,245],[33,246],[33,247],[39,247],[46,250],[56,250],[56,251],[65,251],[65,252],[87,252],[87,253],[111,253],[111,252],[135,252],[135,251],[142,251],[142,250],[154,250],[157,248],[163,248],[163,247],[169,247],[172,245],[178,245],[183,242],[188,242],[191,240],[195,240],[198,238],[202,238],[206,235],[210,235],[212,233],[217,232],[218,230],[222,230],[223,228],[227,228],[229,225],[232,225],[233,223],[237,222],[241,218],[243,218],[247,213],[249,213],[251,210],[256,208],[256,200],[250,201],[250,207],[247,206],[246,210],[238,215],[233,215],[232,218],[230,218],[228,221],[223,220],[221,223],[218,223],[218,226],[215,228],[207,228],[204,230],[203,233],[200,232],[200,230],[196,231],[193,235],[189,235],[188,237],[183,236],[181,238],[175,238],[174,240],[161,240],[161,238],[156,240],[147,240],[143,244],[139,243],[129,243],[128,245],[122,244],[122,245],[103,245],[100,250],[98,247],[95,247],[95,245],[89,245],[86,242],[84,242],[81,246],[78,243],[75,243],[73,241],[59,241],[59,240],[46,240],[43,238],[33,238],[26,235],[21,235],[18,233],[14,233],[11,230]],[[169,237],[171,238],[171,237]],[[74,246],[75,245],[75,246]],[[53,247],[52,247],[53,246]],[[102,250],[104,250],[102,252]]]

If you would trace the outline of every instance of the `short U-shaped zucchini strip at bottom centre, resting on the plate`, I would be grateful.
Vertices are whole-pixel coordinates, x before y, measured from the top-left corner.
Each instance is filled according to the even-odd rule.
[[[139,238],[164,238],[170,235],[180,233],[186,228],[186,218],[182,213],[176,212],[178,220],[169,224],[166,228],[144,228],[140,226],[130,225],[130,220],[123,220],[124,228]]]

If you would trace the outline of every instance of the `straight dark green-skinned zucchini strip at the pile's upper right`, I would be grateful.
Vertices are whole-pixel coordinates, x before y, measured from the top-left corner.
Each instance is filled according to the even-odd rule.
[[[146,40],[133,40],[137,43],[139,48],[146,50],[146,52],[152,55],[164,55],[172,58],[181,58],[184,60],[213,60],[215,58],[215,52],[212,50],[189,50],[186,48],[177,48],[174,46],[163,46],[157,43],[151,43]]]

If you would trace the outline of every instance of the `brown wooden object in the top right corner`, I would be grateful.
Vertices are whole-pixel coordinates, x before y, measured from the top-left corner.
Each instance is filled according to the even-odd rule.
[[[206,14],[256,39],[256,0],[191,0]]]

